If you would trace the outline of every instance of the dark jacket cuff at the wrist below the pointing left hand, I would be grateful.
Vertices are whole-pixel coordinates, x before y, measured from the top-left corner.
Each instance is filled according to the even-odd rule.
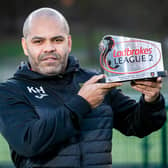
[[[65,103],[65,106],[80,118],[91,110],[90,104],[79,95],[73,96],[70,101]]]

